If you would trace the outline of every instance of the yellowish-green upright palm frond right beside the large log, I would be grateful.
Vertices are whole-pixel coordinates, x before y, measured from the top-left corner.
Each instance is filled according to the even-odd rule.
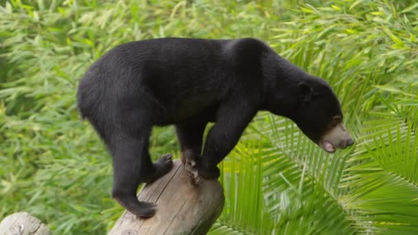
[[[230,159],[221,164],[221,182],[227,198],[219,221],[244,234],[267,232],[273,226],[263,200],[264,152],[257,146],[239,144]]]

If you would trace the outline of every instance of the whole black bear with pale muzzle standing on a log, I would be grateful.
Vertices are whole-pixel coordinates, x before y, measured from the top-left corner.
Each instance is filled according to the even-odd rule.
[[[219,177],[217,164],[260,110],[293,120],[327,152],[353,144],[327,82],[254,38],[119,45],[89,67],[77,100],[113,156],[113,198],[140,217],[153,216],[155,205],[137,200],[137,186],[173,166],[170,155],[152,163],[152,126],[175,124],[182,161],[206,179]],[[202,151],[208,122],[215,124]]]

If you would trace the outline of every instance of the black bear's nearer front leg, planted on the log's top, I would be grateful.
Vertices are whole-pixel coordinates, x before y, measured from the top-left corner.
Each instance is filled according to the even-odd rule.
[[[251,102],[230,100],[219,107],[217,121],[210,129],[203,148],[203,154],[197,161],[199,175],[206,179],[216,179],[220,172],[217,164],[230,153],[236,145],[245,127],[251,122],[257,110]]]

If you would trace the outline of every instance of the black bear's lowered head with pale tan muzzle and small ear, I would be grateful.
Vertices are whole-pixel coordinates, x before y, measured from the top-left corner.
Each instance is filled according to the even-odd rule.
[[[342,124],[342,117],[340,102],[325,80],[309,76],[298,82],[294,122],[309,139],[328,153],[353,144]]]

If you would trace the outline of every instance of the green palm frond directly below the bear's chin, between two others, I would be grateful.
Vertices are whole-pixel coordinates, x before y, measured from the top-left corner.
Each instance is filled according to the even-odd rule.
[[[270,197],[272,208],[278,215],[283,214],[281,203],[284,192],[298,199],[293,208],[299,208],[300,218],[290,219],[294,223],[292,232],[298,234],[336,233],[352,234],[350,221],[345,211],[338,204],[338,183],[344,159],[348,152],[329,155],[311,143],[295,124],[289,120],[270,115],[270,128],[274,131],[271,139],[276,146],[276,154],[270,157],[271,163],[266,166],[266,194]],[[276,120],[279,120],[276,122]],[[282,126],[283,125],[283,126]],[[276,160],[274,160],[276,159]],[[269,184],[272,182],[272,185]],[[297,189],[297,190],[296,190]],[[277,197],[281,195],[281,197]],[[268,198],[267,198],[268,199]],[[298,204],[302,206],[297,206]],[[280,223],[279,223],[280,224]],[[305,228],[301,225],[305,225]],[[282,225],[279,231],[289,232],[289,225]],[[292,226],[291,226],[292,227]]]

